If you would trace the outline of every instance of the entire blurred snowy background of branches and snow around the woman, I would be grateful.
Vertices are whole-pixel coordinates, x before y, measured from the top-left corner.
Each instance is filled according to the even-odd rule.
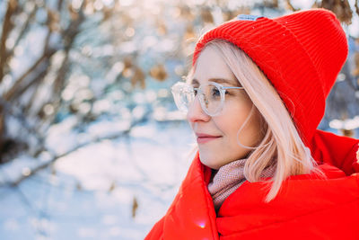
[[[197,38],[313,2],[0,1],[0,239],[143,239],[194,156],[170,88]],[[349,56],[320,129],[359,138],[358,14],[334,2]]]

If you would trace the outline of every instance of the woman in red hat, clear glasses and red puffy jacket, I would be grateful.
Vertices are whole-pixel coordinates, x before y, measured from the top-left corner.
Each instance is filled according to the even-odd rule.
[[[146,239],[359,239],[359,140],[317,129],[346,56],[323,9],[206,32],[172,88],[197,156]]]

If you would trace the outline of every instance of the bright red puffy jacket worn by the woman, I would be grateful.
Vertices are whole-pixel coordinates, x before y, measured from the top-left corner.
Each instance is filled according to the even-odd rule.
[[[359,239],[358,139],[318,130],[311,152],[328,179],[295,175],[265,203],[263,182],[244,182],[218,213],[211,171],[198,155],[166,215],[145,239]]]

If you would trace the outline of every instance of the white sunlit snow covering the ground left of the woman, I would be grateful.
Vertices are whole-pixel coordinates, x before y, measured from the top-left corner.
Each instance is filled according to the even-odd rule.
[[[50,145],[71,148],[76,140],[67,129],[67,137],[63,128],[53,133]],[[82,147],[16,187],[3,184],[1,239],[143,239],[178,191],[193,142],[186,122],[149,122],[130,138]],[[31,161],[1,166],[2,182]]]

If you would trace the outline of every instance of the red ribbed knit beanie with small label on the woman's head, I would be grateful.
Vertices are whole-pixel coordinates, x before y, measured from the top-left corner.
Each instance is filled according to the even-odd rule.
[[[239,15],[198,40],[193,65],[206,43],[215,39],[232,42],[258,65],[308,144],[347,56],[346,34],[335,14],[311,9],[274,19]]]

